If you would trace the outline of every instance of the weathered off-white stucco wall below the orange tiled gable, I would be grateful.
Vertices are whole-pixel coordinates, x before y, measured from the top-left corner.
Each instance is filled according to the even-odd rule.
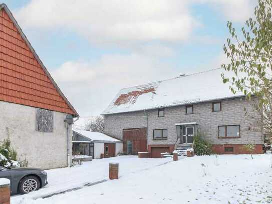
[[[10,138],[18,158],[26,158],[28,166],[45,169],[65,167],[68,165],[66,115],[53,112],[53,132],[38,132],[36,108],[0,101],[0,142]],[[69,146],[72,155],[72,127],[69,131]]]

